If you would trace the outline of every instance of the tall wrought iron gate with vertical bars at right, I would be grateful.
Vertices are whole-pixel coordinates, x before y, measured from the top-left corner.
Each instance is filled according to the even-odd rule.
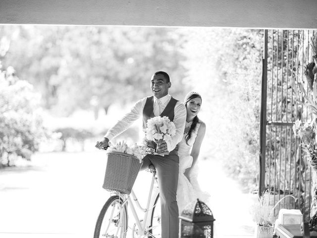
[[[305,80],[314,34],[313,30],[264,30],[259,194],[268,189],[270,205],[286,197],[275,212],[300,209],[305,221],[310,218],[312,171],[292,126],[296,119],[307,121],[310,114],[296,100],[291,83]]]

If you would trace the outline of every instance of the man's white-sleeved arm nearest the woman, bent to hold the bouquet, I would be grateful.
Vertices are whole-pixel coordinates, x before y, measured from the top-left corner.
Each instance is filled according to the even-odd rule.
[[[174,108],[174,124],[176,127],[176,134],[167,144],[167,151],[171,152],[176,145],[182,140],[185,130],[186,121],[186,107],[183,103],[177,102]]]

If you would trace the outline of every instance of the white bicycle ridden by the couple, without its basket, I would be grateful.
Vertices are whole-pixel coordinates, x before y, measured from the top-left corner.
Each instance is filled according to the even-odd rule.
[[[126,238],[130,230],[132,238],[161,238],[157,173],[153,165],[149,166],[148,171],[153,176],[146,207],[141,206],[133,189],[129,195],[111,192],[98,217],[94,238]],[[135,221],[132,227],[128,227],[128,207]],[[143,211],[143,219],[139,219],[136,207]]]

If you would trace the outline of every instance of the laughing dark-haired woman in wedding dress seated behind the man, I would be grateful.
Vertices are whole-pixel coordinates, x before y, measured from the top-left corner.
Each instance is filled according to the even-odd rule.
[[[210,196],[201,191],[197,181],[197,160],[206,132],[206,124],[197,117],[201,109],[202,97],[199,93],[189,92],[185,97],[184,104],[187,110],[186,125],[183,139],[178,144],[177,204],[179,214],[187,204],[194,202],[197,198],[206,203]]]

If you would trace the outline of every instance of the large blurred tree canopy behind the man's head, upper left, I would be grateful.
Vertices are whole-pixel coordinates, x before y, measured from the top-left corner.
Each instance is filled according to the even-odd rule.
[[[59,115],[135,101],[149,94],[158,70],[169,72],[173,85],[185,77],[182,36],[172,28],[0,27],[10,39],[3,65],[17,65],[19,76],[41,91],[44,106]],[[171,89],[176,97],[182,90]]]

